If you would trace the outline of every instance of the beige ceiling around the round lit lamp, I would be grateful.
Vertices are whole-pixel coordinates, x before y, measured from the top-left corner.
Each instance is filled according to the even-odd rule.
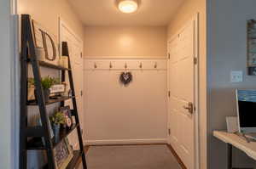
[[[123,14],[115,0],[68,0],[86,26],[167,25],[185,0],[141,0],[134,14]]]

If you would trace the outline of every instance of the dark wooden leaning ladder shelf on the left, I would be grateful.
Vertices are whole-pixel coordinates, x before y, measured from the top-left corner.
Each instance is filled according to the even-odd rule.
[[[68,69],[58,65],[52,65],[43,61],[39,61],[36,55],[36,44],[35,37],[32,33],[32,20],[30,15],[22,14],[21,15],[21,59],[20,59],[20,169],[27,168],[27,150],[29,149],[44,149],[46,151],[48,164],[45,168],[57,169],[55,166],[55,157],[54,149],[55,147],[63,141],[64,138],[73,132],[75,129],[78,133],[79,138],[79,150],[73,151],[73,159],[67,165],[67,168],[74,168],[79,159],[82,158],[84,169],[87,169],[85,154],[84,154],[84,145],[81,134],[81,127],[79,123],[79,114],[77,108],[77,102],[75,98],[75,90],[73,83],[73,73],[71,69],[70,57],[67,48],[67,42],[62,42],[62,55],[68,57]],[[27,101],[27,83],[28,83],[28,64],[32,65],[32,72],[35,82],[35,90],[37,95],[38,102],[29,103]],[[48,67],[54,70],[61,71],[61,82],[65,82],[66,71],[69,77],[70,88],[73,91],[71,97],[62,97],[61,99],[49,99],[46,103],[44,99],[43,87],[41,85],[41,73],[40,66]],[[73,110],[72,115],[75,116],[76,124],[73,124],[72,127],[68,129],[63,129],[60,132],[60,136],[56,141],[55,138],[50,138],[49,131],[49,117],[46,109],[46,105],[61,103],[61,106],[64,106],[65,100],[72,99],[73,101]],[[41,126],[38,127],[28,127],[27,125],[27,106],[38,106],[41,118]],[[27,139],[32,138],[32,139]],[[39,139],[37,139],[39,138]],[[44,144],[42,139],[44,138]]]

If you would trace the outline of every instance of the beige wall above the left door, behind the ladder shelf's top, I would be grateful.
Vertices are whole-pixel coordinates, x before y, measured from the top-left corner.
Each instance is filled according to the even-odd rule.
[[[84,27],[67,0],[19,0],[19,14],[31,14],[46,29],[59,36],[59,17],[79,36],[84,37]]]

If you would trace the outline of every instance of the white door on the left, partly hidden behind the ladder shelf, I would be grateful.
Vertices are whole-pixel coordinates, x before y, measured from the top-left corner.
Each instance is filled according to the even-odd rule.
[[[77,106],[79,111],[79,122],[81,123],[81,127],[83,127],[83,119],[84,119],[84,110],[83,110],[83,42],[79,40],[78,37],[76,37],[73,34],[73,31],[71,31],[67,25],[63,23],[63,21],[60,21],[60,28],[61,28],[61,42],[67,42],[68,50],[70,54],[71,59],[71,68],[73,70],[73,82],[75,87],[75,94],[76,94],[76,100],[77,100]],[[66,74],[66,79],[68,80],[68,76]],[[69,83],[68,88],[69,87]],[[69,104],[72,108],[72,100],[68,100],[66,104]],[[76,138],[70,137],[73,142],[77,140]],[[77,143],[76,143],[77,144]]]

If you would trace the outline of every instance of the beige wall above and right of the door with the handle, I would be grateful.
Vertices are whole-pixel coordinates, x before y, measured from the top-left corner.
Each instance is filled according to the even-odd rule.
[[[186,21],[192,19],[196,13],[199,13],[199,104],[200,104],[200,151],[201,151],[201,169],[207,168],[207,48],[206,48],[206,0],[187,0],[178,8],[171,23],[168,26],[168,37],[172,37],[179,29],[183,27]]]

